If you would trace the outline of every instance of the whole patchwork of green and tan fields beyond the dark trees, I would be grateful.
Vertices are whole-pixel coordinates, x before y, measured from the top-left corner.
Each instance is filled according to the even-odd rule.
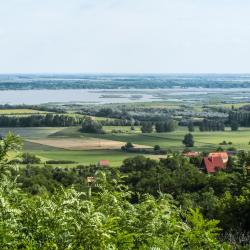
[[[182,151],[183,137],[188,133],[186,128],[178,128],[171,133],[142,134],[139,128],[131,131],[129,127],[116,127],[122,133],[111,133],[113,127],[104,127],[106,134],[86,134],[79,131],[79,127],[69,128],[1,128],[0,134],[12,131],[24,138],[24,150],[34,153],[45,160],[73,160],[79,164],[96,164],[101,159],[110,161],[111,166],[119,166],[125,158],[135,156],[132,153],[125,153],[119,150],[125,142],[132,142],[153,147],[160,145],[161,148]],[[128,132],[126,133],[126,131]],[[194,135],[197,151],[212,151],[219,147],[222,141],[232,142],[232,145],[223,146],[225,149],[234,146],[237,149],[250,150],[250,128],[241,128],[232,132],[199,132],[196,129]],[[91,142],[102,141],[115,143],[117,147],[91,147]],[[49,143],[47,143],[49,142]],[[69,143],[67,145],[67,143]],[[123,142],[123,143],[120,143]],[[72,144],[73,143],[73,144]],[[80,145],[80,144],[81,145]],[[84,144],[84,147],[82,145]],[[78,145],[79,144],[79,145]],[[73,145],[73,146],[72,146]],[[79,147],[80,148],[79,148]],[[93,145],[92,145],[93,146]],[[63,149],[64,148],[64,149]],[[66,148],[66,149],[65,149]],[[158,156],[146,155],[151,158]]]

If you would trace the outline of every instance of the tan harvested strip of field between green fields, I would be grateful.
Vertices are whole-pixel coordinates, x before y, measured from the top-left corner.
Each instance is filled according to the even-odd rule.
[[[69,150],[92,150],[92,149],[120,149],[125,142],[105,140],[98,138],[65,138],[65,139],[38,139],[27,140],[32,143],[47,145],[55,148]],[[150,146],[134,144],[136,148],[151,148]]]

